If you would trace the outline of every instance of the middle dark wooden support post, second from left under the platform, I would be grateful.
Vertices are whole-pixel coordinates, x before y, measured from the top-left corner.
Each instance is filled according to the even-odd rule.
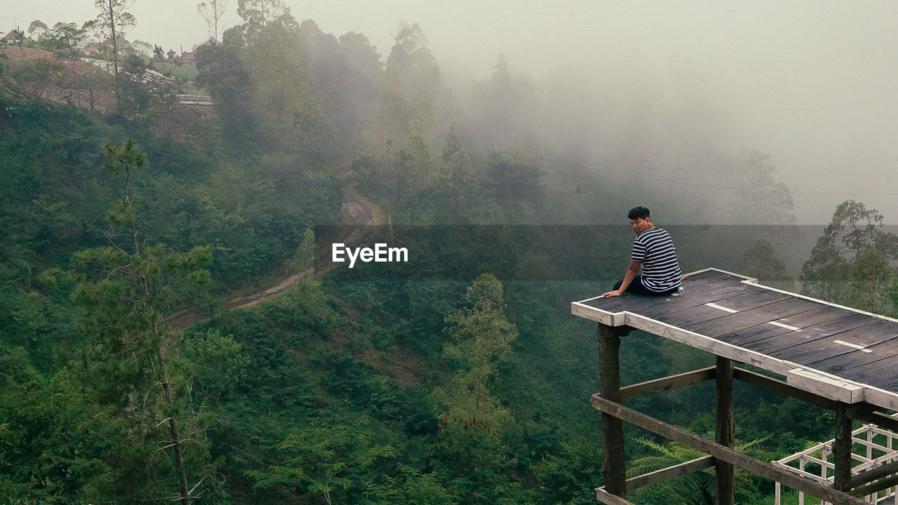
[[[715,441],[723,447],[733,447],[735,424],[733,422],[733,360],[718,356],[717,364],[718,409]],[[714,465],[718,494],[717,505],[734,505],[735,476],[733,465],[717,460]]]

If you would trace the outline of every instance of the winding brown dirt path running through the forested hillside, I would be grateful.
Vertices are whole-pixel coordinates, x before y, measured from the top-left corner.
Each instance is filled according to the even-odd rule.
[[[373,226],[375,224],[373,209],[367,208],[365,205],[372,206],[373,204],[348,194],[347,201],[344,201],[340,208],[342,214],[347,217],[348,224],[351,226],[348,235],[343,239],[346,244],[355,244],[361,238],[363,226]],[[249,295],[227,300],[225,302],[225,308],[232,309],[241,306],[253,306],[259,303],[260,300],[272,297],[286,289],[294,287],[300,280],[307,276],[320,275],[327,272],[332,267],[333,263],[330,261],[319,261],[317,268],[312,267],[309,270],[291,275],[286,279],[278,280],[277,283],[272,284],[267,288],[261,288]],[[181,330],[201,319],[203,319],[202,315],[198,315],[194,312],[185,312],[172,317],[169,323],[171,323],[172,329]]]

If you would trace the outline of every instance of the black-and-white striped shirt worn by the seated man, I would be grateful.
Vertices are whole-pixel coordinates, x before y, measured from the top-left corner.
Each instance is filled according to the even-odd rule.
[[[642,263],[642,285],[647,289],[661,292],[680,287],[676,248],[664,228],[649,228],[636,235],[629,259]]]

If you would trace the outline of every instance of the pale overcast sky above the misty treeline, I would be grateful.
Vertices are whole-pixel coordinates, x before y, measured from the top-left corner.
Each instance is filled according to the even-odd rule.
[[[136,0],[128,34],[180,51],[208,32],[193,0]],[[898,224],[898,11],[894,2],[679,0],[288,0],[322,31],[364,33],[383,58],[418,22],[441,67],[480,79],[503,54],[513,72],[639,75],[670,100],[713,103],[718,142],[770,155],[800,224],[858,199]],[[240,22],[231,0],[223,23]],[[84,22],[92,0],[0,0],[0,30]],[[675,125],[674,125],[675,128]]]

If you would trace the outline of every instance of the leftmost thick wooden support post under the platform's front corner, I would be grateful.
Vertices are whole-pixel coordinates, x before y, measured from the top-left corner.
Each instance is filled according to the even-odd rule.
[[[621,401],[621,336],[618,329],[599,323],[599,381],[602,395],[612,402]],[[623,454],[623,421],[602,413],[605,491],[627,498],[627,474]]]

